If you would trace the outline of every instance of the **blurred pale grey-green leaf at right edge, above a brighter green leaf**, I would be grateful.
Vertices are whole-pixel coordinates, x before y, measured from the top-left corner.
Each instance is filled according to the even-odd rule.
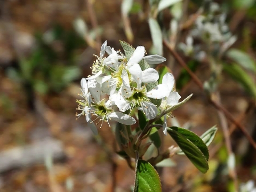
[[[254,73],[256,72],[256,65],[253,59],[250,57],[249,54],[243,52],[238,49],[230,49],[227,52],[227,56],[237,62],[239,65],[244,67],[245,69],[251,70]]]

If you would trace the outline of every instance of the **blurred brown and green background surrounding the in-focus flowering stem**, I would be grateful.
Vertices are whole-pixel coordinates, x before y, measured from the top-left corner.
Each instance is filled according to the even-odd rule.
[[[174,111],[170,125],[198,135],[219,128],[209,148],[209,172],[203,175],[186,157],[174,156],[160,171],[163,191],[235,191],[233,183],[253,190],[255,148],[208,95],[218,97],[255,142],[255,1],[162,0],[168,6],[158,6],[158,14],[161,1],[0,2],[1,192],[131,191],[135,173],[115,153],[113,132],[105,126],[95,137],[84,117],[76,120],[76,99],[81,78],[91,74],[93,54],[106,40],[115,50],[122,51],[122,40],[161,54],[149,17],[204,83],[202,90],[163,47],[181,99],[194,93]],[[163,149],[174,145],[161,137]]]

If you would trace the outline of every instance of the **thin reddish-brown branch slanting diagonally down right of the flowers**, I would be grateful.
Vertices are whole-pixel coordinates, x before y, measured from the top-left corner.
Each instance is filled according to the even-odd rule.
[[[163,41],[164,45],[167,47],[167,49],[170,51],[170,53],[173,55],[173,57],[178,61],[179,65],[181,65],[183,68],[186,69],[186,71],[188,72],[188,74],[191,76],[192,80],[199,86],[199,88],[201,90],[204,90],[204,86],[202,84],[202,82],[199,80],[199,78],[195,75],[195,73],[193,71],[191,71],[188,66],[186,65],[185,61],[183,61],[183,59],[180,57],[180,55],[175,52],[170,46],[169,44],[166,42],[166,40]],[[219,103],[217,103],[216,101],[214,101],[212,98],[210,99],[210,103],[212,103],[212,105],[217,108],[218,110],[221,110],[225,116],[227,117],[227,119],[229,119],[229,121],[231,123],[234,123],[245,135],[245,137],[249,140],[249,142],[251,143],[251,145],[254,147],[254,149],[256,149],[256,143],[255,141],[252,139],[251,135],[246,131],[246,129],[244,128],[244,126],[242,126],[239,122],[236,121],[236,119],[229,113],[229,111],[227,109],[225,109],[224,107],[222,107],[221,105],[219,105]]]

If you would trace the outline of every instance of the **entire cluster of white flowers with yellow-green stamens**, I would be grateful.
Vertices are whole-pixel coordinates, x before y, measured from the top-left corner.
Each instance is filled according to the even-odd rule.
[[[105,52],[107,57],[104,57]],[[178,103],[180,95],[173,92],[172,74],[165,74],[163,83],[157,84],[158,72],[149,67],[149,64],[162,63],[166,59],[159,55],[145,56],[145,53],[145,47],[138,46],[127,57],[127,53],[124,55],[107,46],[106,41],[99,56],[95,55],[97,60],[91,67],[92,75],[81,80],[83,99],[77,100],[77,109],[81,113],[76,114],[85,116],[94,134],[98,134],[96,125],[101,127],[104,121],[109,126],[109,120],[124,125],[135,124],[135,119],[130,116],[133,109],[142,110],[147,119],[154,119],[159,113],[154,100],[162,99],[162,109]],[[95,116],[94,120],[92,116]],[[166,124],[166,115],[164,120]],[[166,127],[164,129],[166,134]]]

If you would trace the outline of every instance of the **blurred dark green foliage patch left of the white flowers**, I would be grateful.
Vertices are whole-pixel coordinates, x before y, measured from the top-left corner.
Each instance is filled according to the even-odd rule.
[[[75,66],[74,51],[84,44],[74,31],[66,31],[56,25],[44,35],[36,34],[37,47],[30,57],[19,61],[19,68],[10,68],[7,75],[22,84],[29,84],[35,92],[61,92],[81,75]],[[59,53],[54,47],[59,41],[63,50]]]

